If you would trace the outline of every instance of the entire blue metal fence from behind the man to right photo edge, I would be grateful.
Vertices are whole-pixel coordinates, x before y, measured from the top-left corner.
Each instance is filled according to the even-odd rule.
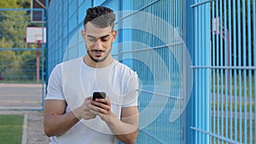
[[[255,1],[52,1],[48,75],[85,54],[80,28],[96,5],[133,10],[117,13],[112,54],[141,80],[137,143],[255,143]]]

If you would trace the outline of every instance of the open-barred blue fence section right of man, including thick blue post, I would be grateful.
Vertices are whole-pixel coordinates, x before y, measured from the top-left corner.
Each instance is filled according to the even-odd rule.
[[[255,143],[255,1],[201,1],[193,9],[195,142]]]

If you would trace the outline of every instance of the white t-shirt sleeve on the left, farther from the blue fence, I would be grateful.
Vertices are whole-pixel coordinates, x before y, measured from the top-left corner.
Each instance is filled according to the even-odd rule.
[[[45,100],[64,100],[61,82],[61,64],[55,66],[49,76]]]

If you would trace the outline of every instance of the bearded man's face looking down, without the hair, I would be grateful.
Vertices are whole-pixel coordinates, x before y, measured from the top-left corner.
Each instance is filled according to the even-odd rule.
[[[102,62],[108,58],[116,31],[111,26],[101,28],[88,22],[82,31],[87,54],[95,62]]]

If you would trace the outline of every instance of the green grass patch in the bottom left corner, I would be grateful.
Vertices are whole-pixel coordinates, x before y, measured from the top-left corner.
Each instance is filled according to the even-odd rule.
[[[0,143],[21,143],[23,118],[23,115],[0,115]]]

